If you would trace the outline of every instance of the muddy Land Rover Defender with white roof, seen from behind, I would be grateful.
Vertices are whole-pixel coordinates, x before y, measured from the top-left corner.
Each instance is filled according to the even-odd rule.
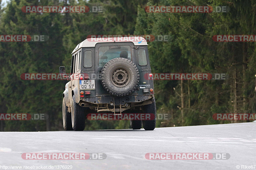
[[[126,38],[126,39],[122,39]],[[147,41],[142,37],[90,38],[72,52],[69,82],[63,92],[63,127],[84,130],[87,114],[150,113],[130,120],[132,129],[153,130],[156,102]],[[60,74],[65,77],[64,66]]]

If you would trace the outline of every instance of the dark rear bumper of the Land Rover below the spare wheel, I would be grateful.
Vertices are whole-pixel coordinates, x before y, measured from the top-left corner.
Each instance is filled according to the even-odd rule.
[[[145,100],[149,100],[153,98],[154,95],[135,95],[135,96],[124,96],[124,97],[113,97],[113,96],[105,96],[105,97],[88,97],[88,98],[80,98],[80,101],[85,101],[92,104],[110,104],[113,105],[124,105],[125,103],[139,103]]]

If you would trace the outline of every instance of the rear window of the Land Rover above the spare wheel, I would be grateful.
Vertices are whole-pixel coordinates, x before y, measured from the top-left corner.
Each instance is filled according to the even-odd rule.
[[[101,46],[99,48],[99,67],[103,67],[105,63],[113,58],[122,57],[132,60],[131,47],[124,46]]]

